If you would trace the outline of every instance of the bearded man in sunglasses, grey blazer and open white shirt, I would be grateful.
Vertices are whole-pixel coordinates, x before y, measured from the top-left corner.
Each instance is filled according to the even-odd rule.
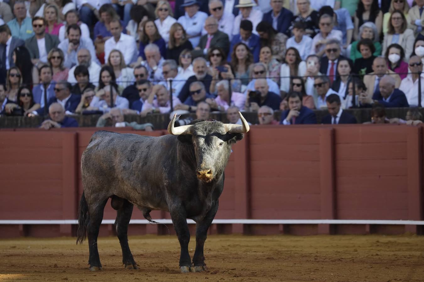
[[[48,63],[47,55],[51,49],[59,45],[59,38],[45,32],[46,21],[40,16],[33,17],[32,28],[35,35],[25,40],[25,47],[31,55],[31,61],[34,65]]]

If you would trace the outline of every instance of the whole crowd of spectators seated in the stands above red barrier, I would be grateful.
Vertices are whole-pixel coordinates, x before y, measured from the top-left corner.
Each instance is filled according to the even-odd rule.
[[[343,110],[372,107],[373,123],[391,122],[385,108],[424,104],[423,10],[424,0],[0,0],[0,116],[48,115],[50,129],[100,114],[97,126],[153,130],[124,115],[177,112],[185,124],[226,112],[237,123],[247,111],[291,125],[326,109],[321,122],[338,124],[357,122]]]

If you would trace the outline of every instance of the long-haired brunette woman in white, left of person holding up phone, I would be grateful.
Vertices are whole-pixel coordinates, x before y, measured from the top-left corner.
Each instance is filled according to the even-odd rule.
[[[299,52],[296,48],[290,47],[287,49],[285,55],[285,63],[281,65],[279,73],[280,79],[280,90],[289,92],[290,89],[290,77],[299,76],[303,77],[306,72],[306,63],[302,61]]]

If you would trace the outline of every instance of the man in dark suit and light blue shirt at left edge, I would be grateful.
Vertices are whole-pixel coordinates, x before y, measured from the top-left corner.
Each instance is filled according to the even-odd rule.
[[[13,37],[8,25],[0,25],[0,83],[6,82],[8,69],[15,65],[12,59],[13,50],[22,45],[24,41]]]

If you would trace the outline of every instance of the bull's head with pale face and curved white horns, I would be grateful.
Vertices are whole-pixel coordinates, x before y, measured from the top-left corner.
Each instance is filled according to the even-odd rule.
[[[194,147],[197,161],[197,177],[211,182],[225,169],[231,145],[243,138],[249,131],[249,124],[239,112],[242,125],[221,123],[220,121],[202,121],[192,125],[174,127],[176,115],[168,125],[168,132],[180,135],[179,140]]]

